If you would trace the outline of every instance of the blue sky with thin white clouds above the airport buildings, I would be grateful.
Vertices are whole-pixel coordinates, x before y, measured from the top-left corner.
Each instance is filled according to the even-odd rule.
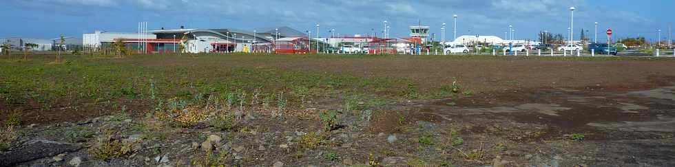
[[[136,32],[138,22],[150,30],[160,27],[236,28],[289,26],[301,32],[316,24],[320,35],[373,34],[391,27],[391,37],[408,36],[408,26],[429,25],[441,37],[494,35],[501,38],[513,25],[515,38],[535,39],[541,31],[567,36],[574,6],[574,36],[581,28],[593,38],[599,22],[599,40],[612,28],[616,37],[644,36],[667,39],[675,14],[672,0],[3,0],[0,2],[0,38],[56,38],[79,36],[94,30]]]

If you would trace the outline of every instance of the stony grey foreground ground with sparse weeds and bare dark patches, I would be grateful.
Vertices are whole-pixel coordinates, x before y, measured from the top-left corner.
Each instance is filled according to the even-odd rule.
[[[342,109],[330,130],[317,113],[331,107],[250,111],[226,129],[121,113],[21,126],[0,166],[673,166],[674,92],[392,102],[371,114]]]

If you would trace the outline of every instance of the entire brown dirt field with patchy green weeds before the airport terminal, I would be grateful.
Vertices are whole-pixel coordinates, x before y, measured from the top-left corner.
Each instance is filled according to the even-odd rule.
[[[66,59],[0,59],[0,166],[675,166],[672,58]]]

